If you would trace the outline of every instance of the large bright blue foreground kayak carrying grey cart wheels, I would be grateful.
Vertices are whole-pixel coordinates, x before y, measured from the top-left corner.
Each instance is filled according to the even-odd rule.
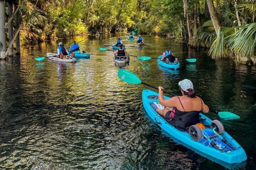
[[[164,98],[168,99],[169,97],[164,96]],[[151,103],[159,104],[158,93],[147,89],[143,90],[142,102],[149,118],[151,118],[152,121],[154,121],[154,123],[175,142],[182,144],[200,155],[220,164],[237,164],[247,159],[243,148],[226,131],[222,134],[214,133],[214,128],[210,128],[212,120],[204,116],[202,113],[200,113],[200,123],[205,126],[205,128],[202,129],[203,137],[198,141],[194,141],[191,139],[188,132],[178,130],[167,122],[168,119],[161,117],[152,109],[150,106]],[[161,105],[159,104],[158,106]],[[233,148],[222,142],[223,138],[225,138]],[[218,149],[211,146],[210,141],[215,141]]]

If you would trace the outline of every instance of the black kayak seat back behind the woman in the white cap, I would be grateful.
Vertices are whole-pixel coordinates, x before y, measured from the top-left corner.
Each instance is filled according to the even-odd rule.
[[[200,115],[197,111],[191,111],[171,119],[169,123],[180,131],[187,131],[190,126],[200,123]]]

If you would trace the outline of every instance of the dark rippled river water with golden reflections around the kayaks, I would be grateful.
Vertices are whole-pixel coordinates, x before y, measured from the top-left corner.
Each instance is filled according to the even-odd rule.
[[[244,148],[248,159],[240,169],[255,169],[256,67],[213,60],[205,50],[162,37],[143,38],[146,45],[127,51],[158,57],[170,49],[181,62],[180,70],[159,67],[155,59],[133,57],[129,65],[115,65],[111,51],[98,49],[112,45],[115,35],[90,36],[79,43],[91,58],[76,63],[35,60],[55,52],[60,41],[68,46],[73,38],[23,46],[20,56],[0,61],[0,168],[225,169],[175,143],[146,118],[141,93],[148,87],[118,79],[117,71],[125,68],[175,94],[180,94],[178,82],[190,79],[210,107],[241,116],[224,121],[207,114],[219,119]],[[197,62],[188,63],[187,58]]]

